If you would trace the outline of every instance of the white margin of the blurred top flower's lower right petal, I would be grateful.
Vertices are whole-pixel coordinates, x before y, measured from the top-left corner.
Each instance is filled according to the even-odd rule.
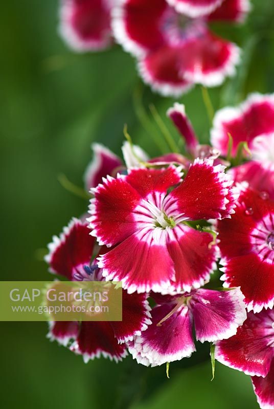
[[[200,67],[197,65],[194,72],[184,71],[182,76],[190,82],[196,84],[202,84],[204,86],[213,87],[221,85],[226,77],[233,77],[236,74],[236,65],[241,61],[241,49],[236,44],[229,44],[230,56],[226,60],[225,64],[219,69],[212,71],[210,74],[204,74],[201,72]]]

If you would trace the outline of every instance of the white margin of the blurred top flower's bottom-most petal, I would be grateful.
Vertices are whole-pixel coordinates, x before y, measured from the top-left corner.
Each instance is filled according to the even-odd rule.
[[[151,89],[164,97],[180,97],[183,94],[189,92],[193,87],[192,83],[186,83],[184,85],[175,85],[168,82],[161,82],[155,80],[153,75],[147,70],[144,60],[138,62],[138,71],[145,84],[149,85]]]

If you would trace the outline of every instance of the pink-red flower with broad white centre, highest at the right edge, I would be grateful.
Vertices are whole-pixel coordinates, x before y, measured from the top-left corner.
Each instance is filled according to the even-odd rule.
[[[211,143],[222,155],[232,155],[241,142],[246,142],[251,161],[230,170],[236,182],[248,181],[249,186],[267,192],[274,200],[274,95],[250,95],[237,108],[227,107],[216,113]]]

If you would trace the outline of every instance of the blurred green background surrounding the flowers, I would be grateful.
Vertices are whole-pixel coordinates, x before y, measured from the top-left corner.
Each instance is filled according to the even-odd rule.
[[[150,136],[163,138],[153,119],[148,113],[144,127],[138,116],[154,103],[165,119],[174,102],[144,87],[133,58],[118,46],[97,54],[70,52],[57,34],[57,15],[56,0],[1,2],[2,280],[51,279],[42,249],[87,205],[60,185],[58,175],[82,186],[90,143],[101,142],[120,154],[125,122],[135,143],[151,155],[161,153]],[[244,26],[214,27],[243,48],[237,77],[210,90],[215,110],[249,92],[273,92],[273,24],[273,1],[253,0]],[[206,142],[210,123],[201,89],[180,101]],[[130,358],[119,365],[105,359],[84,364],[80,356],[50,343],[46,333],[46,323],[1,323],[1,407],[258,407],[242,373],[217,363],[211,382],[209,345],[172,363],[167,379],[164,367],[147,369]]]

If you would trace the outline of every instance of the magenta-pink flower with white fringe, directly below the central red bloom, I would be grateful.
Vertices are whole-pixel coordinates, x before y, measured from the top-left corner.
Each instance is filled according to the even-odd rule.
[[[235,335],[246,320],[243,294],[231,291],[193,290],[180,296],[157,296],[152,324],[128,343],[139,363],[158,366],[191,356],[196,351],[193,329],[200,342],[215,342]]]

